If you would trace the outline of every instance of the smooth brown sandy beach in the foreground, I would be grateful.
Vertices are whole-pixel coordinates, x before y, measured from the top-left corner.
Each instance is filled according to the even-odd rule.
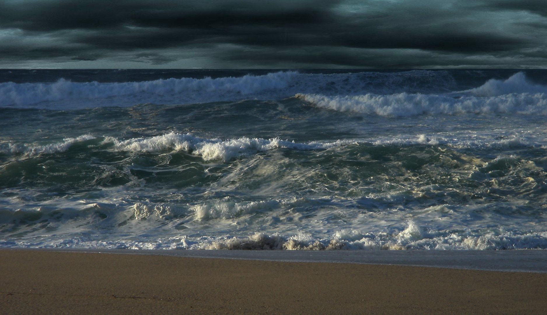
[[[545,314],[547,273],[0,250],[2,314]]]

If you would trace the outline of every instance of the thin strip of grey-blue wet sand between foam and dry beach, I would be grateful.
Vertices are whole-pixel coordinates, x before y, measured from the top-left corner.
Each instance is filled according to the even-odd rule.
[[[46,252],[160,255],[189,258],[293,261],[439,267],[462,270],[547,273],[547,249],[517,250],[226,250],[0,248]]]

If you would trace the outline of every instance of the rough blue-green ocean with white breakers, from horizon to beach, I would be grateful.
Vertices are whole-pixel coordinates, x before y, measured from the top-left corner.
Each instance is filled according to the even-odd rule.
[[[546,70],[0,70],[0,247],[547,249]]]

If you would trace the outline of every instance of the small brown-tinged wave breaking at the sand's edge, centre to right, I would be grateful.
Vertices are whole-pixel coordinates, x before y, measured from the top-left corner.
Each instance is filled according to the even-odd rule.
[[[201,244],[202,249],[547,249],[547,232],[496,231],[481,235],[478,232],[425,232],[414,223],[396,233],[362,233],[337,231],[333,237],[314,240],[305,235],[283,237],[255,233],[249,237],[234,237]],[[188,248],[190,249],[190,247]]]

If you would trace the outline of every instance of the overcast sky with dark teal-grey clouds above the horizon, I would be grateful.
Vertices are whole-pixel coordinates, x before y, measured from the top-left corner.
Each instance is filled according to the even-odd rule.
[[[546,0],[0,2],[0,68],[546,65]]]

